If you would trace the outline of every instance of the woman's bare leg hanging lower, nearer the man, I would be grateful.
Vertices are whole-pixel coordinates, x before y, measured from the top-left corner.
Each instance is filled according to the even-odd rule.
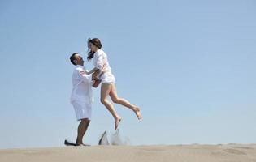
[[[115,108],[113,104],[111,104],[110,101],[107,100],[107,96],[111,92],[111,84],[102,83],[101,87],[101,102],[105,105],[106,109],[112,114],[112,116],[115,118],[115,130],[117,129],[119,122],[121,121],[121,117],[116,113]]]

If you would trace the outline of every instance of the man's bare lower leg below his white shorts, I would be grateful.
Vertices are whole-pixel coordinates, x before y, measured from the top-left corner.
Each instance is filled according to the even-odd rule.
[[[77,138],[76,138],[76,145],[83,144],[83,137],[85,135],[85,132],[89,126],[89,120],[88,118],[81,119],[81,122],[77,129]]]

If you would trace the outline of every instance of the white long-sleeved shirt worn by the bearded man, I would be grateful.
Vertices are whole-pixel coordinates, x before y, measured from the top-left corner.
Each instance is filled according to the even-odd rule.
[[[86,75],[85,67],[77,65],[72,75],[71,102],[80,101],[86,104],[93,103],[93,80],[92,75]]]

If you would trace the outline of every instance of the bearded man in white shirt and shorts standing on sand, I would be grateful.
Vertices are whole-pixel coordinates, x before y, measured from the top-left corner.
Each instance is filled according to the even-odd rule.
[[[93,90],[92,86],[98,73],[87,75],[84,67],[84,60],[79,53],[73,53],[70,61],[76,66],[72,75],[72,95],[71,103],[75,109],[76,119],[80,121],[77,129],[77,138],[75,146],[86,146],[83,143],[83,137],[89,126],[92,114]],[[67,140],[65,144],[67,144]]]

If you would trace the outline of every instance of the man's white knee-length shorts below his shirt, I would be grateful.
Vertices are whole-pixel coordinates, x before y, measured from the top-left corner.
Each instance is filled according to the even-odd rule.
[[[88,120],[91,120],[92,104],[85,104],[85,102],[81,101],[72,101],[72,105],[76,113],[77,121],[84,118],[88,118]]]

